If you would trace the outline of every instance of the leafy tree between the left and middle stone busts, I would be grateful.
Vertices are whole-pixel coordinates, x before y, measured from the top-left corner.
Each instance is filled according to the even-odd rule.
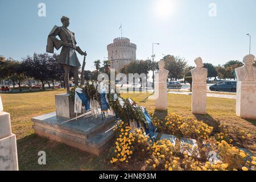
[[[184,77],[188,62],[183,57],[167,55],[163,58],[165,69],[169,71],[168,77],[171,80],[179,80]]]

